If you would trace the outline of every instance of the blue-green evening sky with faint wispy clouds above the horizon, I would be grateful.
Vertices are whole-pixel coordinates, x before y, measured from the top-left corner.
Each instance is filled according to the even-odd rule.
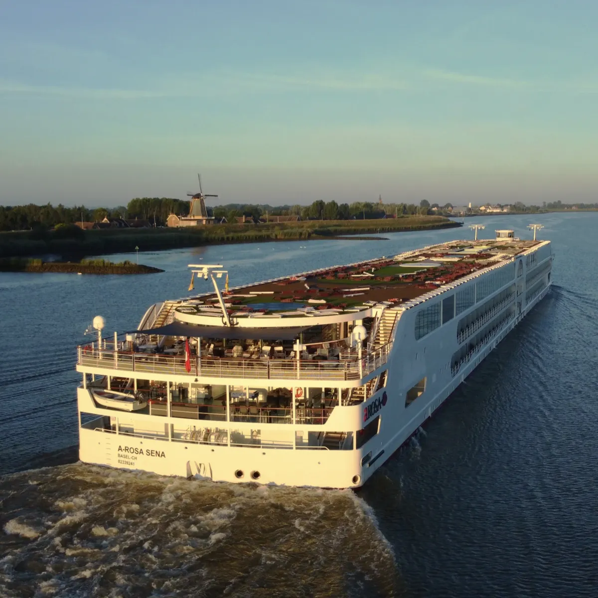
[[[0,205],[598,201],[595,0],[0,0]]]

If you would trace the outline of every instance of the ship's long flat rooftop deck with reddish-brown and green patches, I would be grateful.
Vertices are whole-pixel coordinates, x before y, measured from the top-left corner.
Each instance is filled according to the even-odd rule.
[[[355,313],[377,303],[394,306],[420,297],[431,289],[454,282],[477,270],[511,260],[539,243],[496,239],[456,241],[430,246],[393,258],[310,271],[231,289],[225,307],[239,324],[247,319],[309,319],[315,316]],[[175,318],[221,319],[215,293],[182,300]],[[242,325],[245,325],[243,322]],[[261,325],[254,322],[253,326]],[[286,325],[279,322],[278,325]]]

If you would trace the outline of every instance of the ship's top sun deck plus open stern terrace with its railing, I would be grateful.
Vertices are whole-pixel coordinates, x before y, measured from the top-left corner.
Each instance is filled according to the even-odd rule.
[[[135,334],[79,347],[81,370],[202,379],[367,379],[392,349],[399,312],[422,295],[500,266],[539,241],[457,241],[316,270],[148,310]],[[222,299],[222,305],[220,303]],[[231,326],[224,326],[224,309]],[[365,328],[356,343],[353,329]],[[189,339],[188,355],[185,341]]]

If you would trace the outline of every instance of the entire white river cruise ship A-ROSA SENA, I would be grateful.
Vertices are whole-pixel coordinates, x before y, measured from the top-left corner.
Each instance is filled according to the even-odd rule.
[[[496,231],[149,307],[78,347],[80,459],[213,481],[356,488],[551,284],[549,241]],[[204,282],[207,280],[207,282]]]

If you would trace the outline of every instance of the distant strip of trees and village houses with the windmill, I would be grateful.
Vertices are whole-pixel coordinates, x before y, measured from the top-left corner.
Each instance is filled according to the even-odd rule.
[[[484,203],[465,206],[445,203],[388,203],[379,196],[377,202],[337,204],[334,200],[316,200],[304,205],[255,205],[228,204],[206,205],[216,195],[188,194],[190,199],[167,197],[136,197],[127,206],[115,208],[66,207],[62,204],[38,206],[0,206],[0,231],[50,230],[75,227],[80,230],[108,228],[197,227],[213,224],[289,224],[299,221],[338,221],[402,218],[406,216],[438,215],[463,218],[465,216],[499,215],[507,213],[539,213],[567,210],[596,210],[598,203],[565,204],[560,200],[543,202],[542,206],[529,206],[521,202],[512,204]]]

